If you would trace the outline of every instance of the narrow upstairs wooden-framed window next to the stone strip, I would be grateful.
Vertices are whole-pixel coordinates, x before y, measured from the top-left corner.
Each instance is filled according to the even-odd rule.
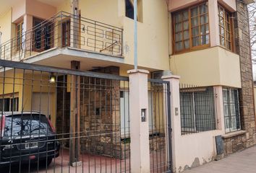
[[[218,5],[218,19],[220,44],[229,50],[234,50],[233,43],[233,21],[232,14],[227,12],[221,5]]]

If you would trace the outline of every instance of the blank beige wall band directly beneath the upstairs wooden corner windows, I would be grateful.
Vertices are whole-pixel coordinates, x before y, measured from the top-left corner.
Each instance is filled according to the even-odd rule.
[[[218,46],[171,56],[170,66],[182,84],[241,87],[239,56]]]

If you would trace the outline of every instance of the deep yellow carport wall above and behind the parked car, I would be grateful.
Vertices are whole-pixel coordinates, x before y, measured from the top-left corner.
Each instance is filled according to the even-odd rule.
[[[24,76],[24,77],[23,77]],[[15,80],[14,80],[15,79]],[[0,74],[0,98],[7,94],[15,94],[19,97],[19,111],[32,110],[32,94],[47,93],[51,99],[51,121],[56,123],[56,86],[48,83],[48,74],[25,74],[21,70],[7,70]],[[41,100],[40,102],[50,102]]]

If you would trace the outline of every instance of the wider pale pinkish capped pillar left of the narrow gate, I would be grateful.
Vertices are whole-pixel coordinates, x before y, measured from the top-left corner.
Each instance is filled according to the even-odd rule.
[[[148,128],[148,71],[130,70],[129,125],[131,138],[131,172],[150,172]],[[145,112],[144,112],[145,111]]]

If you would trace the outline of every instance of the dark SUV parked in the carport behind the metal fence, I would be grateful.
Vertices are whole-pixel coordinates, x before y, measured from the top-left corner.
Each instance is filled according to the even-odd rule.
[[[54,126],[38,112],[4,112],[0,115],[0,167],[10,163],[51,164],[59,156]]]

